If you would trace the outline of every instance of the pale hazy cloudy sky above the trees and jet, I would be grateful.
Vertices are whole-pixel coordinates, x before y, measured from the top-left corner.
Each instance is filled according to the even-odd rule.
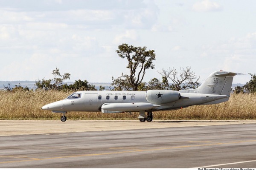
[[[111,82],[129,74],[118,45],[154,50],[155,69],[191,67],[203,82],[213,71],[256,74],[255,0],[0,0],[0,81]]]

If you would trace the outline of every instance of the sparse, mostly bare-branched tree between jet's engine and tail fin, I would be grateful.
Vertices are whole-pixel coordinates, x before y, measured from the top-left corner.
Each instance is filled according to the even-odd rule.
[[[199,78],[197,79],[196,74],[191,71],[191,67],[180,68],[180,73],[175,68],[164,70],[159,72],[163,77],[163,84],[165,89],[179,91],[182,89],[191,89],[199,87]],[[173,82],[169,85],[168,79]]]

